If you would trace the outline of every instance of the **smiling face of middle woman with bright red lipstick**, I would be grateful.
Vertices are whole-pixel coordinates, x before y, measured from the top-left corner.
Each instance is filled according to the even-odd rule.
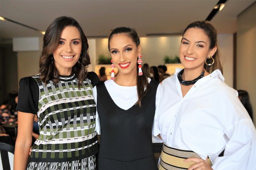
[[[115,34],[110,40],[110,53],[113,63],[119,70],[119,75],[137,74],[137,57],[140,55],[140,46],[126,33]]]

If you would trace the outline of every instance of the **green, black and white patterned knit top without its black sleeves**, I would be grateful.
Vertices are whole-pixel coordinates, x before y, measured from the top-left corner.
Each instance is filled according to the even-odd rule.
[[[80,89],[75,75],[60,77],[39,87],[40,135],[32,146],[30,162],[66,162],[84,159],[98,151],[95,132],[96,105],[92,84],[86,79]]]

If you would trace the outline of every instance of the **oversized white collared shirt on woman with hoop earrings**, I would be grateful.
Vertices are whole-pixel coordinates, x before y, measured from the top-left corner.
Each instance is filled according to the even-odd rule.
[[[162,86],[155,121],[167,146],[194,151],[204,160],[209,156],[214,170],[256,170],[255,126],[220,70],[198,80],[184,97],[177,71]]]

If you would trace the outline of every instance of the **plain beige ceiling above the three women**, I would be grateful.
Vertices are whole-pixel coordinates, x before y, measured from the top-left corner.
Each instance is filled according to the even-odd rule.
[[[0,0],[0,16],[45,31],[58,16],[75,18],[87,37],[107,37],[120,26],[140,37],[180,34],[192,21],[205,20],[219,0]],[[235,33],[237,16],[256,0],[228,0],[211,23],[218,33]],[[0,20],[0,42],[38,37],[39,31]]]

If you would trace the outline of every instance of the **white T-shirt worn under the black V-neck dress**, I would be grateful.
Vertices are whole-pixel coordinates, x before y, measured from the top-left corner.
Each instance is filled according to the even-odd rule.
[[[148,78],[148,83],[151,81],[150,78]],[[118,85],[115,81],[113,80],[107,80],[104,82],[105,86],[112,98],[112,100],[115,102],[115,104],[120,107],[123,110],[128,110],[131,108],[137,101],[138,101],[138,96],[137,96],[137,86],[120,86]],[[159,112],[159,104],[161,102],[161,97],[163,95],[163,87],[161,84],[158,85],[157,90],[156,90],[156,98],[155,98],[155,116],[158,116]],[[97,88],[93,88],[93,96],[94,100],[97,105]],[[155,122],[155,120],[154,120]],[[153,123],[153,129],[152,129],[152,134],[153,135],[158,135],[159,133],[154,133],[156,130],[155,128],[158,128],[154,125]],[[98,134],[101,134],[101,126],[100,126],[100,118],[98,112],[96,112],[96,132]],[[158,132],[158,131],[156,131]]]

